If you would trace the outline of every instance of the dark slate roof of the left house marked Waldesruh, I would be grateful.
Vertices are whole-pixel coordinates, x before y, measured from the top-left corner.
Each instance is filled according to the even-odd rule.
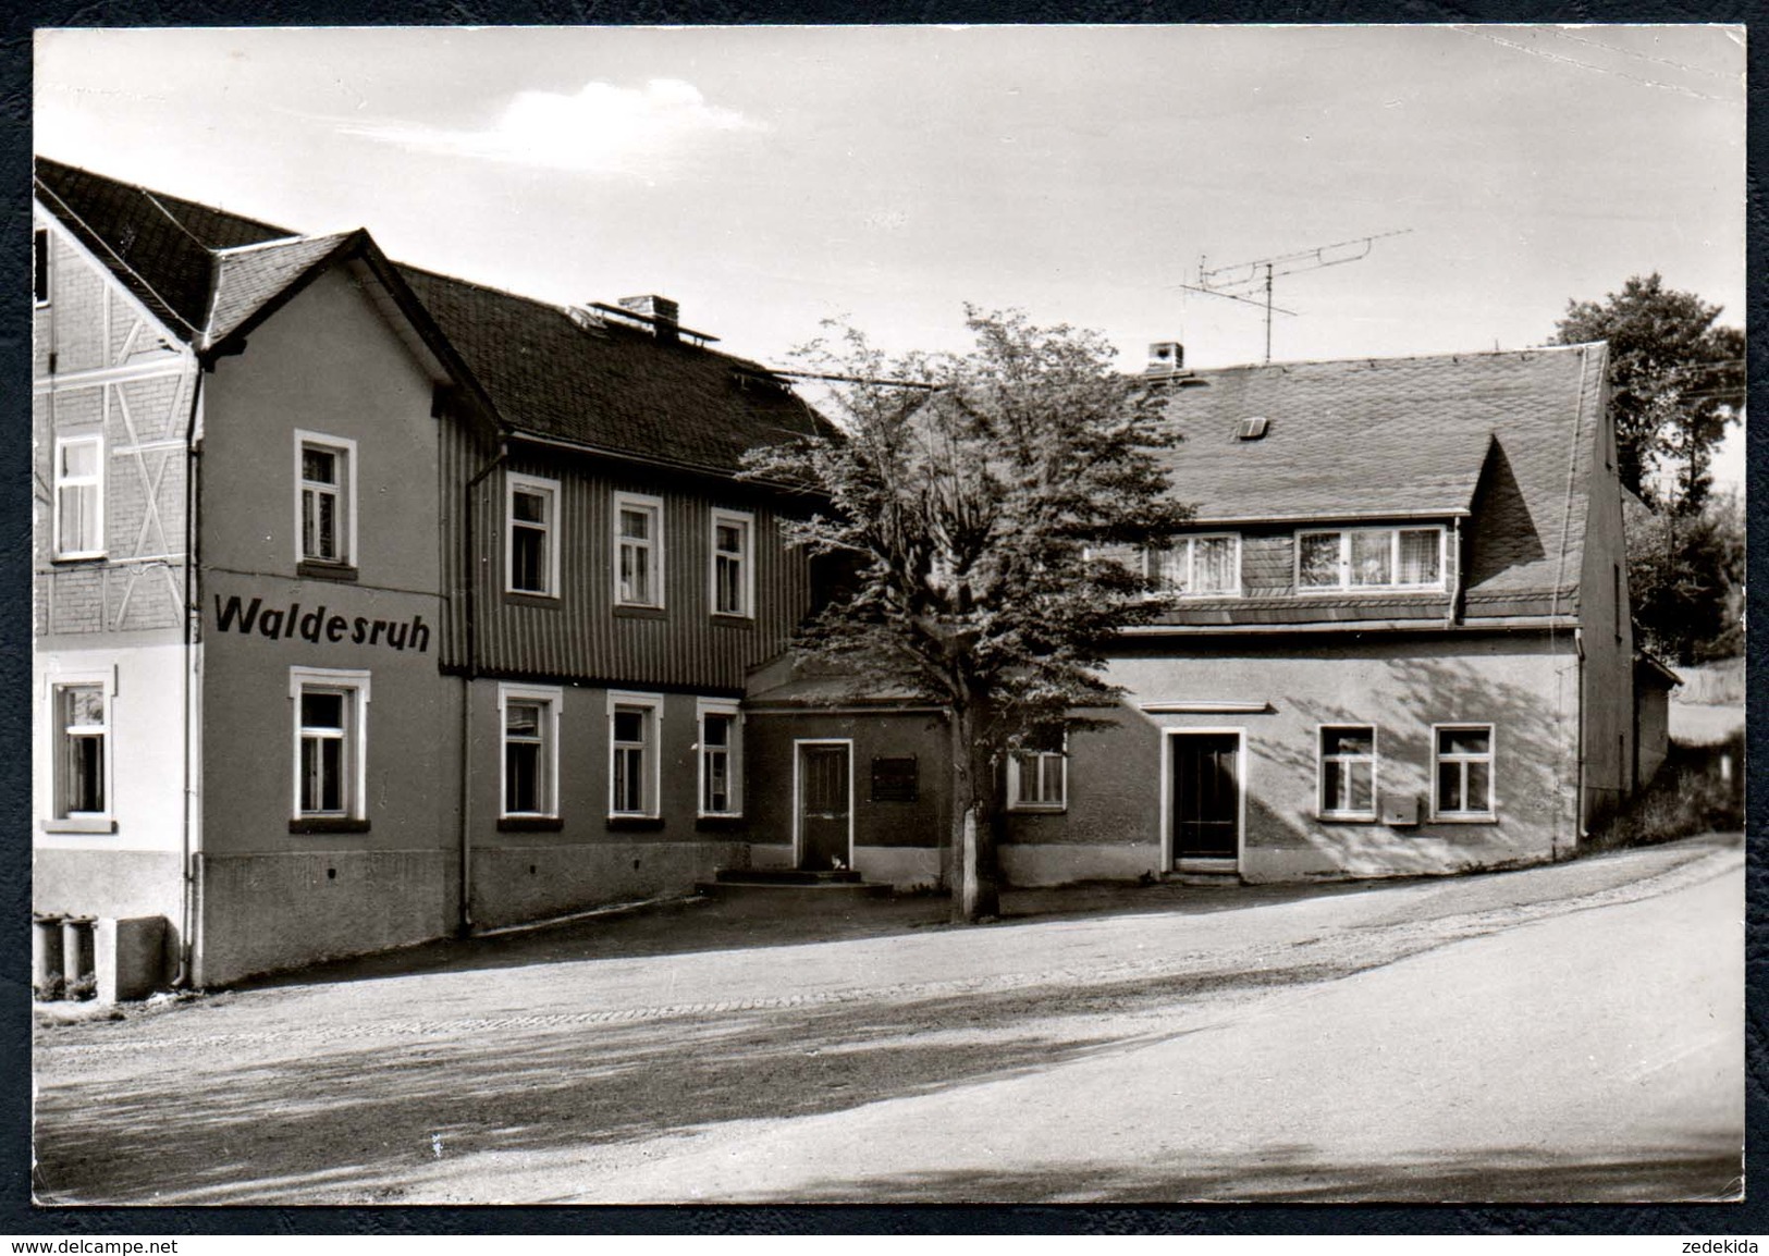
[[[37,195],[120,283],[207,348],[364,232],[308,237],[37,159]],[[747,449],[828,425],[755,363],[617,318],[396,265],[497,421],[534,435],[731,474]]]

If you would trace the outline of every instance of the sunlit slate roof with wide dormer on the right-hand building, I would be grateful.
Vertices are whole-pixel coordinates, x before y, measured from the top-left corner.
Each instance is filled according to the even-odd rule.
[[[1194,371],[1164,384],[1164,456],[1201,525],[1467,515],[1467,617],[1571,614],[1604,371],[1604,345]]]

